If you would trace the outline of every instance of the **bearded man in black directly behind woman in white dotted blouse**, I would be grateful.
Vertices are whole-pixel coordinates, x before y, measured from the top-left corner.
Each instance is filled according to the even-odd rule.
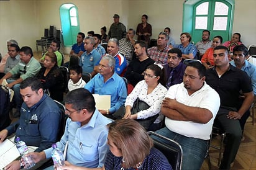
[[[155,61],[147,56],[147,45],[144,41],[135,42],[134,52],[137,58],[130,61],[124,77],[127,79],[128,83],[135,87],[139,81],[144,79],[142,73],[144,73],[147,66],[153,65]]]

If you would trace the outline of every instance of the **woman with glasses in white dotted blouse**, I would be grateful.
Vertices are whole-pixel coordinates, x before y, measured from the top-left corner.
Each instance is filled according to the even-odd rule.
[[[163,97],[167,93],[167,89],[164,86],[163,71],[158,65],[150,65],[143,74],[144,80],[140,81],[129,96],[127,96],[126,103],[124,104],[126,107],[124,119],[147,119],[160,114]],[[131,114],[130,110],[137,98],[140,101],[146,102],[150,107],[149,109],[140,110],[136,114]],[[163,115],[159,115],[155,122],[153,122],[154,126],[160,128],[162,120]]]

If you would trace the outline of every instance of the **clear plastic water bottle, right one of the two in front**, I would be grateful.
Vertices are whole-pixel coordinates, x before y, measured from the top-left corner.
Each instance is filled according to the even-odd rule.
[[[52,144],[52,160],[56,169],[62,169],[64,165],[63,153],[57,148],[56,143]]]

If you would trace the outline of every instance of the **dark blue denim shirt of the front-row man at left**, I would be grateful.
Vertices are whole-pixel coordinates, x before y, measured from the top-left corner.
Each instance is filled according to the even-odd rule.
[[[39,146],[35,151],[43,151],[57,141],[60,125],[60,109],[46,94],[37,104],[27,107],[23,102],[21,117],[7,127],[8,134],[16,132],[16,138],[29,146]]]

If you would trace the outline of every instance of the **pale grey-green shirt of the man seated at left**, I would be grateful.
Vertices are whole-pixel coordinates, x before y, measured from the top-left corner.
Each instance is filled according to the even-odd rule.
[[[41,65],[39,61],[37,61],[33,56],[30,58],[29,63],[27,65],[23,61],[19,61],[14,68],[12,68],[9,72],[14,74],[21,74],[20,78],[23,80],[26,78],[34,77],[35,74],[39,73],[41,69]]]

